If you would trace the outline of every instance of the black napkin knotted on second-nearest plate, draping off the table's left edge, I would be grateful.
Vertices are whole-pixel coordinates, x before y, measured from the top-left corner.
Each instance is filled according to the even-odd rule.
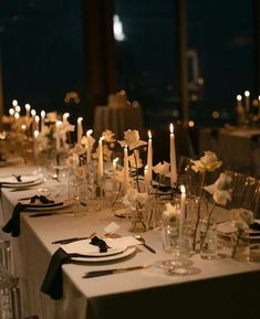
[[[2,227],[2,231],[6,233],[11,233],[13,237],[18,237],[20,235],[20,213],[27,210],[28,208],[38,208],[37,200],[39,200],[42,204],[54,203],[54,201],[50,201],[43,195],[32,196],[29,204],[22,204],[19,202],[12,211],[11,219]]]

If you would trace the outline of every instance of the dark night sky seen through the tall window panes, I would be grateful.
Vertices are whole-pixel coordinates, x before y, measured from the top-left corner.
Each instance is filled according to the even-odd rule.
[[[179,89],[175,1],[115,2],[126,35],[117,43],[118,88],[146,110],[170,108]],[[81,6],[80,0],[0,2],[6,109],[17,98],[37,109],[63,110],[67,92],[86,94]],[[230,110],[236,95],[252,87],[251,10],[246,0],[187,1],[188,49],[196,50],[205,79],[198,105],[209,114]],[[74,107],[80,113],[84,106]]]

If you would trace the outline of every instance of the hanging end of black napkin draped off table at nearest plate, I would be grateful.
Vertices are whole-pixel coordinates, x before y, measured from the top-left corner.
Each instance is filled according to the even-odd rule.
[[[49,264],[45,277],[41,286],[41,291],[49,295],[54,300],[62,298],[62,265],[69,263],[70,260],[71,256],[62,248],[59,248],[52,256]]]

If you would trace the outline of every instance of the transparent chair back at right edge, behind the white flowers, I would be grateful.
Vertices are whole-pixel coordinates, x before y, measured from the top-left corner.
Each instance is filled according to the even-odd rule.
[[[231,201],[227,209],[243,208],[260,216],[260,182],[253,177],[240,172],[226,171],[231,177]]]

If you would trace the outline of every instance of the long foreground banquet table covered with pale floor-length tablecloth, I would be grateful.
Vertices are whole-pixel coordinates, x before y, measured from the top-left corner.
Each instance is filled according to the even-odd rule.
[[[0,176],[27,172],[30,168],[0,169]],[[7,221],[21,196],[35,190],[12,192],[2,189],[2,217]],[[49,262],[59,245],[58,238],[104,233],[112,221],[121,227],[119,235],[128,235],[127,221],[117,219],[110,210],[89,212],[84,216],[59,215],[30,217],[21,214],[21,234],[12,237],[13,272],[20,277],[23,316],[38,315],[40,319],[153,319],[153,318],[259,318],[260,264],[239,263],[231,258],[205,260],[199,255],[191,259],[201,273],[193,276],[169,276],[157,266],[142,270],[96,278],[82,276],[89,270],[135,265],[154,265],[163,259],[158,230],[144,233],[147,243],[157,253],[139,245],[136,253],[113,263],[63,265],[63,298],[52,300],[41,293]],[[219,210],[218,219],[228,213]],[[220,253],[225,253],[222,247]]]

